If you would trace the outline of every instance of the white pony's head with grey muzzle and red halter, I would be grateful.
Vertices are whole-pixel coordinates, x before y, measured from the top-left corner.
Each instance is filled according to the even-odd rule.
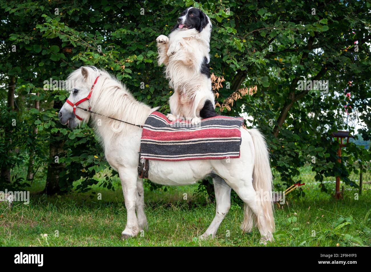
[[[97,68],[81,67],[68,76],[68,81],[71,83],[69,84],[69,102],[66,101],[65,104],[63,104],[58,114],[59,121],[62,125],[75,128],[80,125],[82,121],[87,122],[89,120],[90,113],[80,109],[88,109],[89,101],[86,100],[78,104],[77,106],[80,108],[77,108],[75,104],[88,97],[97,75],[99,75]]]

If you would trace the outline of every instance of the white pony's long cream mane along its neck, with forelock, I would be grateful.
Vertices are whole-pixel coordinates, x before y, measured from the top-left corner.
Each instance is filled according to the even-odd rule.
[[[148,115],[157,109],[152,109],[150,106],[136,100],[125,85],[121,84],[117,78],[107,71],[94,66],[84,66],[84,68],[88,70],[87,82],[91,82],[91,84],[99,75],[89,101],[92,111],[132,124],[144,124]],[[69,75],[68,80],[77,80],[81,77],[81,68],[79,68]],[[92,119],[95,125],[99,119],[109,122],[113,132],[125,132],[137,128],[97,114],[92,114]]]

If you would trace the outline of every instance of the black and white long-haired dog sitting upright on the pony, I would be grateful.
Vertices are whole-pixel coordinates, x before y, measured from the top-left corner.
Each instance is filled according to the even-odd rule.
[[[189,7],[181,13],[169,37],[157,37],[158,64],[166,66],[166,77],[174,89],[169,104],[170,121],[177,118],[197,124],[217,115],[211,90],[209,51],[210,18],[201,10]]]

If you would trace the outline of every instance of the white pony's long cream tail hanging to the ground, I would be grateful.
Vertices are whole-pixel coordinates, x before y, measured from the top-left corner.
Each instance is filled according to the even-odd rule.
[[[264,136],[259,130],[251,129],[248,130],[255,148],[255,163],[253,170],[253,187],[256,191],[256,200],[260,205],[260,215],[253,215],[251,209],[245,206],[243,224],[252,228],[253,221],[255,219],[255,226],[257,226],[260,232],[267,236],[268,240],[273,239],[273,232],[275,231],[275,220],[273,215],[273,177],[269,163],[269,153],[267,144],[264,140]],[[247,228],[248,230],[248,228]]]

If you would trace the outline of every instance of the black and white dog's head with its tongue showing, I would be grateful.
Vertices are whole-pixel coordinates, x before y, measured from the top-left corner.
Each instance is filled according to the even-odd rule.
[[[188,30],[196,28],[198,32],[201,32],[209,23],[209,17],[207,17],[205,13],[195,7],[188,7],[180,14],[178,24],[173,28],[173,30]]]

